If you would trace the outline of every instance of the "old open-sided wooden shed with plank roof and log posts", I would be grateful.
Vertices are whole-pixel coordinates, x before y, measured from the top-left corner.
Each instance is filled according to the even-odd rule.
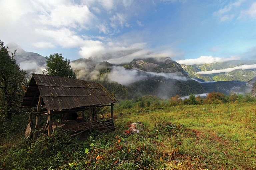
[[[31,135],[32,129],[46,132],[48,135],[58,126],[67,124],[63,119],[65,114],[74,114],[78,111],[89,110],[89,121],[76,124],[72,128],[64,129],[80,134],[89,128],[109,129],[113,128],[113,104],[118,102],[116,97],[101,84],[91,81],[64,78],[59,76],[32,74],[29,86],[26,90],[21,107],[30,108],[26,136]],[[95,112],[96,107],[111,107],[111,117],[108,120],[101,120]],[[53,125],[52,115],[61,114],[61,125]],[[35,126],[33,127],[33,116],[35,115]],[[40,125],[41,116],[47,116],[47,123],[44,127]],[[66,123],[66,124],[65,124]],[[108,125],[108,126],[107,126]],[[79,128],[78,128],[79,127]],[[80,130],[78,130],[80,129]],[[82,129],[82,130],[81,130]],[[74,135],[75,135],[74,134]],[[33,134],[36,138],[38,134]]]

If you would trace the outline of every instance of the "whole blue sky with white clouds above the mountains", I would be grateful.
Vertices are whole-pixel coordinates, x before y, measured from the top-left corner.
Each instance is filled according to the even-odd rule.
[[[252,0],[1,0],[0,15],[2,41],[43,56],[256,59]]]

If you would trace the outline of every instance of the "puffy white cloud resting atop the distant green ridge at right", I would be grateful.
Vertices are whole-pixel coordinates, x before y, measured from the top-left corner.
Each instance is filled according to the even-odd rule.
[[[215,62],[224,62],[230,60],[238,60],[239,56],[231,56],[229,58],[213,57],[213,56],[200,56],[199,58],[191,58],[185,60],[177,60],[179,64],[194,65],[194,64],[210,64]]]

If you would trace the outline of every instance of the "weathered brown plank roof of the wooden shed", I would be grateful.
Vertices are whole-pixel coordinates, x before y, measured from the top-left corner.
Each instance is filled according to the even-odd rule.
[[[32,74],[21,106],[36,106],[39,94],[47,110],[61,111],[118,102],[100,83]]]

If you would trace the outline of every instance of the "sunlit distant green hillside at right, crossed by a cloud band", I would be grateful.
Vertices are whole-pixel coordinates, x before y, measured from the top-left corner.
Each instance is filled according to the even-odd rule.
[[[189,74],[191,78],[200,78],[205,81],[249,81],[256,76],[255,69],[234,70],[229,73],[215,74],[196,74],[199,71],[211,71],[213,69],[220,70],[225,68],[233,68],[240,65],[256,64],[256,60],[233,60],[211,64],[185,65],[181,64],[182,68]]]

